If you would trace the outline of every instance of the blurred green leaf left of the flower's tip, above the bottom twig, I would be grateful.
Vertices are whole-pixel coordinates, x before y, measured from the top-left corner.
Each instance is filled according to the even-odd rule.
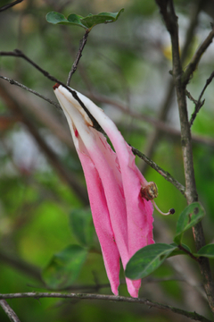
[[[53,290],[70,286],[78,277],[86,260],[87,250],[78,245],[70,245],[53,255],[42,272],[42,277]]]

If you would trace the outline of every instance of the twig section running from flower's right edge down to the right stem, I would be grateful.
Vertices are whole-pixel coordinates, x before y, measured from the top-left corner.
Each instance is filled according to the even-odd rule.
[[[185,187],[180,182],[177,182],[177,180],[173,178],[173,176],[169,174],[169,172],[163,170],[161,166],[156,165],[155,162],[153,162],[149,157],[146,157],[144,153],[140,152],[137,148],[133,148],[133,147],[131,148],[132,148],[132,152],[136,156],[142,158],[142,160],[144,160],[144,162],[146,162],[147,165],[150,165],[152,169],[156,170],[159,174],[161,174],[164,177],[164,179],[172,183],[178,189],[178,191],[180,191],[183,195],[185,194]]]

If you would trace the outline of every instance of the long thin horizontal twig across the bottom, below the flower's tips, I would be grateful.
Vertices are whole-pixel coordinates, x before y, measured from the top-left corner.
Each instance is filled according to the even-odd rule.
[[[86,294],[86,293],[60,293],[60,292],[20,292],[10,294],[0,294],[0,299],[23,299],[23,298],[61,298],[61,299],[77,299],[77,300],[101,300],[115,302],[129,302],[147,305],[150,308],[164,309],[170,312],[177,313],[186,318],[201,322],[211,322],[208,318],[202,317],[196,312],[188,312],[184,309],[177,309],[169,305],[161,304],[155,301],[150,301],[144,298],[129,298],[125,296],[103,295],[103,294]]]

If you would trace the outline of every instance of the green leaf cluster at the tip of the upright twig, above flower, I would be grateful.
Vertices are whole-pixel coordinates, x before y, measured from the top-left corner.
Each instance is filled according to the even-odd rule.
[[[90,13],[86,17],[82,17],[76,13],[70,13],[68,19],[62,13],[51,12],[46,14],[46,21],[53,24],[76,25],[86,30],[91,30],[97,24],[117,21],[120,13],[123,12],[124,9],[119,10],[119,13]]]

